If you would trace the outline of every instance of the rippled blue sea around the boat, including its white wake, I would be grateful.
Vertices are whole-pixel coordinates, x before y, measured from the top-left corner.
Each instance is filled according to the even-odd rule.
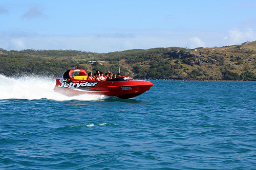
[[[256,82],[152,81],[128,100],[0,82],[0,169],[256,169]]]

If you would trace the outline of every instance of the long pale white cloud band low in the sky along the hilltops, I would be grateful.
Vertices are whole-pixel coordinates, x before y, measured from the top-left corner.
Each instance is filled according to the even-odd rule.
[[[125,33],[124,33],[125,32]],[[0,31],[0,47],[6,50],[81,50],[108,53],[154,47],[214,47],[256,40],[250,29],[228,33],[172,30],[121,30],[116,34],[39,35],[32,32]],[[192,38],[191,38],[192,37]]]

